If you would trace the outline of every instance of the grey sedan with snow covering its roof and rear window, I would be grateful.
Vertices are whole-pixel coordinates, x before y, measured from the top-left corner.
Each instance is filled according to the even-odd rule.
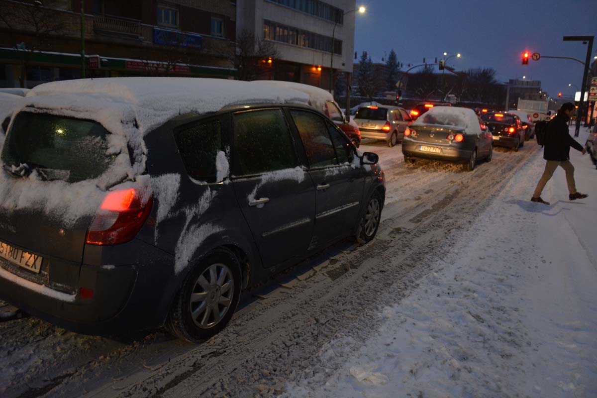
[[[433,159],[464,163],[475,169],[478,159],[490,162],[493,140],[475,111],[436,106],[418,118],[405,132],[402,154],[406,162]]]

